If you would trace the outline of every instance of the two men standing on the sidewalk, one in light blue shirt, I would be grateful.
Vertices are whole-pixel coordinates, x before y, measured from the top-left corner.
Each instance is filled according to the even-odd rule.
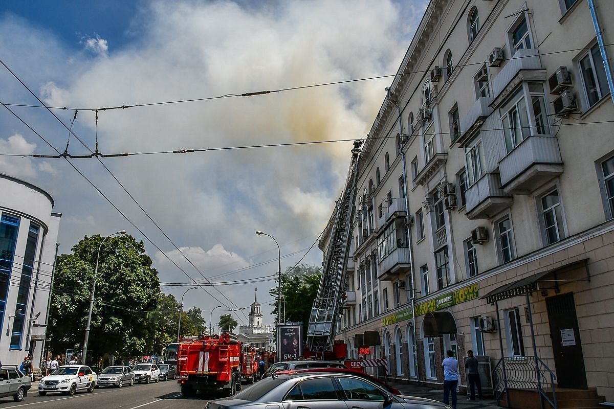
[[[441,362],[443,367],[443,403],[449,405],[449,396],[452,395],[452,407],[456,409],[456,388],[459,383],[459,361],[454,357],[452,350],[446,352],[448,357]],[[469,380],[470,394],[467,400],[475,400],[475,389],[478,389],[478,399],[482,399],[482,384],[478,372],[478,359],[473,356],[473,351],[467,351],[465,368]]]

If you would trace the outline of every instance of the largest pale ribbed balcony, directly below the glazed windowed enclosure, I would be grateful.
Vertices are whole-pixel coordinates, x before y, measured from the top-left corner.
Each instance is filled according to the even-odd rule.
[[[499,161],[505,193],[527,194],[563,172],[556,136],[527,137]]]

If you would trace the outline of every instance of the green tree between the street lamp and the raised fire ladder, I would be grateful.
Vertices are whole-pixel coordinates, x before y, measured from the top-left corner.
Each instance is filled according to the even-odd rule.
[[[322,277],[322,267],[306,266],[300,264],[295,269],[288,267],[285,273],[281,276],[281,294],[284,296],[281,299],[282,321],[284,321],[284,299],[286,300],[286,322],[303,321],[303,334],[306,334],[307,324],[309,323],[309,314],[313,306],[313,300],[316,299],[317,289],[320,286],[320,278]],[[269,290],[271,297],[278,298],[278,289],[271,288]],[[273,311],[271,314],[275,316],[274,321],[277,322],[278,303],[271,304]]]

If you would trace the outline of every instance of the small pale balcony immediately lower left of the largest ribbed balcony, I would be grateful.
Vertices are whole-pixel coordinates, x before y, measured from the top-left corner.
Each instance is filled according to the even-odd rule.
[[[485,174],[465,191],[467,218],[488,219],[511,206],[512,198],[500,188],[499,175]]]

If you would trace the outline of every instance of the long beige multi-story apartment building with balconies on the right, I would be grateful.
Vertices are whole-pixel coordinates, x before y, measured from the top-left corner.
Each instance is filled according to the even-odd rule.
[[[465,385],[473,350],[500,390],[507,363],[614,400],[613,15],[430,1],[359,156],[349,354],[436,384],[453,350]]]

